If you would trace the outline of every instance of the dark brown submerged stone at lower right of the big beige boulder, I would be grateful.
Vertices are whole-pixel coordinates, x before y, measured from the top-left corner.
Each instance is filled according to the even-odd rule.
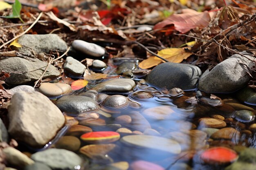
[[[63,136],[55,144],[55,147],[58,149],[66,149],[66,150],[75,152],[75,151],[79,150],[80,145],[81,145],[81,142],[77,137]]]

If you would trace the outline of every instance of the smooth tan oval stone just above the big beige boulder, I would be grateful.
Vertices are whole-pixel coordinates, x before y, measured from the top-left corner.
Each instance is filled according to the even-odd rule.
[[[42,83],[38,90],[43,95],[52,97],[70,93],[72,88],[70,85],[64,83]]]

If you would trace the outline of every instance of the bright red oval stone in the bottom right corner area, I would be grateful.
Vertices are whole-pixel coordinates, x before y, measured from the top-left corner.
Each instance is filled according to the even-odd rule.
[[[201,159],[205,163],[225,164],[236,161],[236,159],[238,159],[238,155],[234,150],[226,147],[213,147],[204,150],[201,154]]]

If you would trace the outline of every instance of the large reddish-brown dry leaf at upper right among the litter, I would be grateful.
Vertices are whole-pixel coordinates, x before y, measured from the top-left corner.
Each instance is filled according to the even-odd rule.
[[[187,9],[182,14],[173,14],[162,22],[157,23],[154,29],[161,29],[171,24],[174,25],[176,31],[186,33],[196,27],[204,28],[208,26],[211,17],[207,11],[197,12],[192,9]]]

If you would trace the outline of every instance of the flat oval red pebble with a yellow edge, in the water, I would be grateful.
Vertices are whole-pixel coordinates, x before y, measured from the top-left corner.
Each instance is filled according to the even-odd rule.
[[[120,138],[119,133],[112,131],[88,132],[80,137],[83,141],[90,144],[106,144],[117,141]]]

